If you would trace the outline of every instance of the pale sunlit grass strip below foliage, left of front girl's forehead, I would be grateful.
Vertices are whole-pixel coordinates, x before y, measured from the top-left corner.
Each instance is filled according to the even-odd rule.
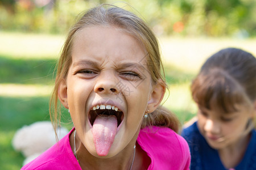
[[[0,31],[0,55],[12,58],[57,58],[64,36]]]

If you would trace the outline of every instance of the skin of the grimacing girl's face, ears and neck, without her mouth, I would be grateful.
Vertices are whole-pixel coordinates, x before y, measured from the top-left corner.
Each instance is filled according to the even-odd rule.
[[[146,54],[134,37],[116,27],[84,28],[75,37],[72,63],[58,96],[69,108],[77,131],[76,153],[82,169],[130,168],[144,112],[153,112],[165,92],[162,83],[152,85]],[[106,156],[97,155],[88,119],[90,109],[99,101],[111,101],[124,116]],[[73,135],[70,142],[73,150]],[[133,169],[148,166],[143,164],[148,160],[145,154],[137,147]]]

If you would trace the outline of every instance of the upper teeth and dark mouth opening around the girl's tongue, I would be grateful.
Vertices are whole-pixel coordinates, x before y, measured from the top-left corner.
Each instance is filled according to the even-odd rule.
[[[123,121],[123,112],[119,110],[117,107],[112,106],[112,105],[96,105],[94,106],[90,112],[89,112],[89,121],[90,124],[93,126],[94,121],[96,120],[97,116],[102,116],[102,115],[114,115],[117,117],[117,127],[121,124]]]

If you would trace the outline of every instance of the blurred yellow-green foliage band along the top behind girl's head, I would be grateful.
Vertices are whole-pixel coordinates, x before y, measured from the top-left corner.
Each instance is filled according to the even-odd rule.
[[[3,3],[5,2],[5,3]],[[0,1],[0,29],[24,32],[64,33],[74,23],[77,14],[110,3],[141,14],[156,33],[189,36],[256,35],[256,1],[254,0],[114,0],[53,1],[46,6],[24,6]],[[31,1],[32,2],[32,1]]]

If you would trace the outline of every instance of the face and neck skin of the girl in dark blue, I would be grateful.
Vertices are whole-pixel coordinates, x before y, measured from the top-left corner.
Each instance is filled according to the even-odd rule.
[[[247,122],[255,115],[253,105],[241,104],[236,108],[237,112],[225,114],[216,107],[212,110],[199,107],[197,114],[200,133],[210,147],[218,150],[226,168],[236,167],[242,160],[250,141],[250,133],[246,132]]]

